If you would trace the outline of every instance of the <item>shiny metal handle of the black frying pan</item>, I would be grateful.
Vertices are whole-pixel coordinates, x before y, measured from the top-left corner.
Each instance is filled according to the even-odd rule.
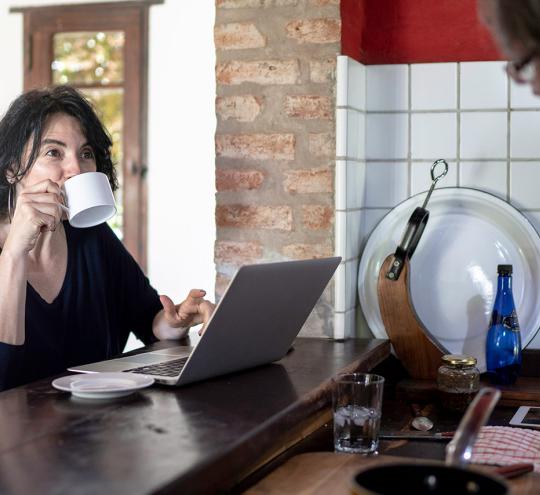
[[[501,392],[496,388],[486,387],[476,394],[471,402],[452,441],[446,446],[446,464],[448,466],[465,466],[472,455],[472,448],[480,428],[487,423]]]

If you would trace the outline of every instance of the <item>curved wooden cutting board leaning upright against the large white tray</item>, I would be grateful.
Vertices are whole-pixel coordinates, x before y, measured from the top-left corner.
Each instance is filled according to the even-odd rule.
[[[398,280],[386,278],[392,263],[389,255],[379,271],[377,295],[388,338],[412,378],[435,380],[443,352],[429,339],[419,322],[409,294],[409,262],[405,261]]]

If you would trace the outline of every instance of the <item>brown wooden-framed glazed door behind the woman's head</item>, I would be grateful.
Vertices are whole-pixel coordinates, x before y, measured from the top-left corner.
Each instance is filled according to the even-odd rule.
[[[24,89],[70,84],[101,114],[118,167],[112,227],[146,269],[148,10],[163,0],[15,8],[24,15]]]

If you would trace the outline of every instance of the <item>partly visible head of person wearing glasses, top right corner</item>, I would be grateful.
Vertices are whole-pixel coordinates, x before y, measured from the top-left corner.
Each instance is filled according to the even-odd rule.
[[[478,0],[478,11],[510,60],[510,77],[540,96],[540,0]]]

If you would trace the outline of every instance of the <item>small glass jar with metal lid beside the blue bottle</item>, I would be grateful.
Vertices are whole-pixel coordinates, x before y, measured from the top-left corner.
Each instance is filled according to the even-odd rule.
[[[480,387],[476,358],[446,354],[437,373],[437,387],[444,409],[464,411]]]

